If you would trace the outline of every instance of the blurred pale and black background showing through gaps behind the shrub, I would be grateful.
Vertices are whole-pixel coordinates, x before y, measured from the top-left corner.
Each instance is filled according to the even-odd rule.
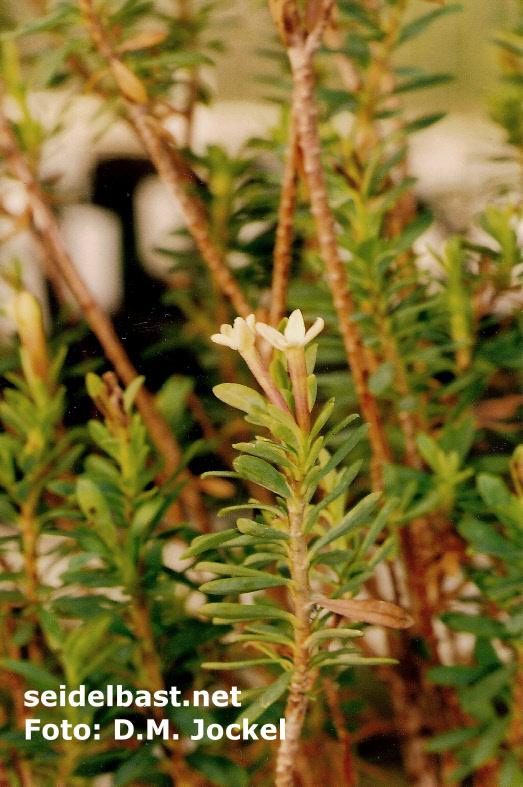
[[[169,11],[173,0],[162,2]],[[2,0],[2,26],[34,18],[37,5],[34,0]],[[410,14],[414,18],[432,7],[437,6],[413,0]],[[492,161],[502,153],[504,140],[489,120],[487,103],[499,77],[492,39],[514,23],[517,7],[518,0],[464,0],[459,13],[444,16],[400,50],[398,65],[454,75],[450,83],[404,97],[413,116],[448,113],[411,137],[409,162],[418,178],[417,198],[436,218],[419,244],[420,253],[428,246],[437,248],[451,232],[466,231],[497,185],[513,177],[510,165]],[[278,106],[266,100],[267,77],[278,73],[277,65],[259,53],[276,39],[261,0],[222,3],[216,21],[225,49],[216,55],[215,67],[201,69],[214,98],[196,108],[192,146],[202,154],[207,145],[218,144],[234,155],[278,122]],[[163,324],[172,319],[162,304],[172,260],[158,248],[176,248],[181,242],[172,236],[181,226],[177,206],[129,128],[97,117],[96,99],[70,101],[67,90],[38,91],[31,97],[31,111],[47,128],[61,126],[45,144],[41,175],[53,180],[70,252],[101,305],[115,317],[131,352],[140,353],[164,335]],[[181,133],[176,118],[171,120],[171,130]],[[0,184],[0,197],[11,211],[17,204],[23,210],[23,195],[13,183]],[[23,260],[26,286],[48,309],[38,254],[29,233],[18,234],[1,245],[0,264]],[[12,326],[5,320],[2,325],[8,335]],[[183,364],[179,356],[176,362]],[[154,380],[158,371],[146,359],[143,364],[154,387],[160,382]]]

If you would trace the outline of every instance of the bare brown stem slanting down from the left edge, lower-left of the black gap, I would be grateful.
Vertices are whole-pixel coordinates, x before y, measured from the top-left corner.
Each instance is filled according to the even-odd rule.
[[[25,186],[33,224],[45,245],[49,262],[54,264],[59,270],[67,286],[78,301],[85,319],[104,350],[107,360],[114,366],[122,382],[125,385],[129,385],[137,377],[137,371],[129,360],[111,320],[96,303],[87,285],[78,273],[67,251],[58,222],[49,207],[47,198],[20,150],[11,126],[2,111],[0,111],[0,150],[5,155],[13,175]],[[135,401],[153,442],[165,458],[165,471],[169,475],[180,464],[182,458],[180,448],[166,422],[156,410],[154,398],[149,391],[142,387]],[[185,472],[183,478],[190,480],[191,476],[188,472]],[[205,522],[204,509],[194,484],[188,484],[184,487],[182,499],[196,521],[200,524]]]

